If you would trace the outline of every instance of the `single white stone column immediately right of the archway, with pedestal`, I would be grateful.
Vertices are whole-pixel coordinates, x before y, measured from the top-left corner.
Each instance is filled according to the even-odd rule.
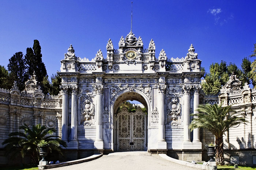
[[[167,149],[167,143],[165,141],[165,90],[166,85],[160,84],[158,86],[157,107],[159,120],[157,149]]]

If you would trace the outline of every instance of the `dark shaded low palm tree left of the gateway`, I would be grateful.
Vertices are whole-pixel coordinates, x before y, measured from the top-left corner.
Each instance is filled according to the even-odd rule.
[[[50,152],[52,150],[61,153],[61,146],[67,147],[65,141],[62,141],[60,137],[52,135],[56,130],[54,128],[46,128],[37,124],[33,126],[32,129],[26,124],[19,127],[22,131],[17,131],[9,134],[9,138],[5,139],[2,143],[6,154],[18,154],[20,153],[24,157],[27,153],[31,155],[31,163],[38,165],[39,162],[39,146],[38,144],[42,141],[48,143],[48,148]],[[61,146],[60,146],[61,145]]]

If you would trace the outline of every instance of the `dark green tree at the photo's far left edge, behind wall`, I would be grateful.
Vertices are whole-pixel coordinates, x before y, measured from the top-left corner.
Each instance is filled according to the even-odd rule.
[[[8,70],[6,70],[4,66],[0,65],[0,88],[10,90],[12,88],[12,84],[13,82],[10,79]]]

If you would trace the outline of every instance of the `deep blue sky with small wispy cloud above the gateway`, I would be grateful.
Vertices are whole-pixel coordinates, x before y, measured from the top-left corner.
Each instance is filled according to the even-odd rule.
[[[151,38],[156,56],[185,57],[191,43],[208,71],[225,60],[240,66],[256,43],[256,1],[133,0],[133,33],[144,47]],[[37,39],[48,75],[60,70],[70,44],[76,56],[94,58],[99,49],[106,58],[109,38],[118,48],[130,31],[131,1],[1,0],[0,65]]]

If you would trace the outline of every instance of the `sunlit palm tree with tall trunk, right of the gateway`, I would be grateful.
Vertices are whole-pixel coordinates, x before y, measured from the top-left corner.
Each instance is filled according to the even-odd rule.
[[[210,131],[215,136],[216,155],[215,160],[217,165],[224,165],[224,149],[223,135],[230,128],[240,123],[248,122],[244,115],[236,112],[231,106],[222,107],[221,104],[205,104],[197,107],[199,113],[192,114],[194,116],[189,129],[191,131],[196,128],[204,128]]]

